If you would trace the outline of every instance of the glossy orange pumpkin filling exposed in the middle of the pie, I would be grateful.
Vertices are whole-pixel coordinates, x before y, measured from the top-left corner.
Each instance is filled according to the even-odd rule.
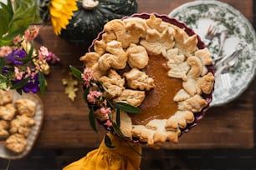
[[[146,125],[153,119],[168,119],[177,112],[177,102],[173,101],[176,93],[182,89],[182,80],[168,77],[167,60],[161,55],[150,55],[148,65],[143,69],[153,77],[156,87],[146,92],[140,105],[140,114],[129,114],[133,124]]]

